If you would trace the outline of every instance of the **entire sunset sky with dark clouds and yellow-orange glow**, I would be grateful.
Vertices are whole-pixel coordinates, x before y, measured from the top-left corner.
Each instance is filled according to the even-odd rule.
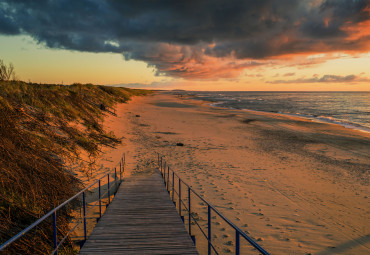
[[[0,0],[20,80],[370,91],[370,0]]]

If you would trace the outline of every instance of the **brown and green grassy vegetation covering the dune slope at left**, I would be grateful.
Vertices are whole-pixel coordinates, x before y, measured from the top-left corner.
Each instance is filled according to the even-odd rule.
[[[112,107],[148,93],[92,84],[0,81],[0,243],[82,188],[66,169],[66,160],[79,158],[82,151],[94,157],[101,146],[120,143],[103,130],[97,105]],[[58,226],[66,233],[70,212],[58,213]],[[44,224],[7,252],[47,253],[51,231],[51,224]]]

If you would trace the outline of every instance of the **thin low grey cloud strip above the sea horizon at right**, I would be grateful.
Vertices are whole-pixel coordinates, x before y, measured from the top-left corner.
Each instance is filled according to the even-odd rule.
[[[370,82],[370,79],[356,76],[354,74],[341,76],[341,75],[323,75],[319,77],[318,75],[313,75],[312,78],[301,78],[294,80],[274,80],[269,81],[268,83],[273,84],[282,84],[282,83],[352,83],[352,82]]]

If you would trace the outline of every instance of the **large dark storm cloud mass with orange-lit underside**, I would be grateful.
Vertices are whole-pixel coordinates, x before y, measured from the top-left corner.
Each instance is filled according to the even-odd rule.
[[[285,55],[368,51],[369,17],[368,0],[2,0],[0,33],[209,79]]]

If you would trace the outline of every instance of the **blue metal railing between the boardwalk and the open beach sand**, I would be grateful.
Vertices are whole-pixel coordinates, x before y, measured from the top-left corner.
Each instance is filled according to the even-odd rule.
[[[199,234],[201,234],[206,239],[207,254],[209,255],[212,253],[219,254],[220,251],[217,251],[215,247],[216,244],[212,242],[212,219],[217,216],[217,217],[220,217],[224,222],[226,222],[234,231],[235,254],[237,255],[240,254],[241,238],[247,241],[247,243],[249,243],[249,245],[251,245],[253,249],[258,251],[259,253],[264,254],[264,255],[269,254],[256,241],[254,241],[251,237],[249,237],[243,230],[241,230],[234,223],[232,223],[229,219],[227,219],[218,209],[215,208],[215,206],[211,205],[207,200],[205,200],[201,195],[199,195],[193,188],[191,188],[190,185],[188,185],[185,181],[183,181],[176,172],[170,169],[170,166],[163,159],[163,156],[160,156],[159,154],[158,154],[158,168],[161,171],[166,189],[168,193],[170,194],[172,201],[175,203],[176,207],[178,208],[178,213],[182,221],[184,222],[185,225],[187,225],[188,233],[191,239],[193,240],[194,244],[195,244],[195,236],[193,235],[192,225],[198,226]],[[175,181],[175,177],[178,179],[178,181]],[[183,197],[182,190],[181,190],[181,187],[184,185],[186,188],[185,193],[187,193],[185,197]],[[177,204],[176,204],[175,194],[177,195],[177,202],[178,202]],[[205,206],[207,207],[207,210],[206,210],[207,220],[206,220],[206,225],[204,227],[201,226],[201,223],[199,222],[200,219],[199,218],[197,219],[196,217],[196,215],[198,214],[195,212],[195,209],[194,209],[195,206],[192,207],[192,200],[193,200],[192,197],[194,197],[194,195],[195,197],[200,199],[200,201],[202,201],[202,203],[204,203]],[[184,215],[183,215],[183,212],[185,212]],[[216,215],[213,216],[213,213],[215,213]],[[185,222],[185,217],[186,217],[187,222]]]

